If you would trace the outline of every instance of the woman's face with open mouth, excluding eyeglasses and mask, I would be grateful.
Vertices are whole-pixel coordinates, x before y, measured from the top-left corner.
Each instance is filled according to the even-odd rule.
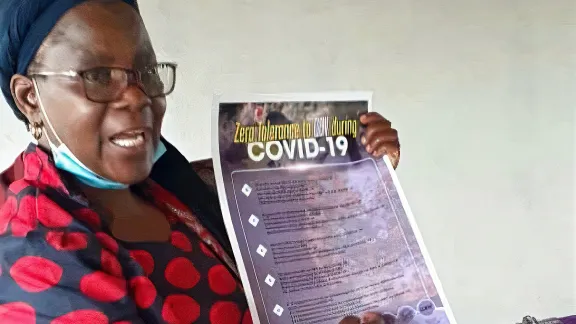
[[[44,46],[45,45],[45,46]],[[88,1],[70,10],[39,51],[40,66],[34,72],[84,71],[96,67],[139,70],[154,65],[156,57],[148,33],[136,11],[123,2]],[[32,69],[32,68],[31,68]],[[39,94],[14,91],[30,103],[23,112],[31,122],[42,120],[47,147],[48,123],[40,113],[39,100],[55,132],[89,169],[108,179],[134,184],[146,179],[153,166],[166,110],[164,97],[149,98],[139,87],[129,86],[107,103],[86,98],[81,79],[40,77]],[[13,82],[15,87],[26,82]],[[26,105],[24,105],[26,106]],[[144,133],[144,143],[126,147],[118,139]],[[52,142],[59,145],[55,136]],[[126,143],[126,142],[124,142]],[[121,144],[121,143],[120,143]]]

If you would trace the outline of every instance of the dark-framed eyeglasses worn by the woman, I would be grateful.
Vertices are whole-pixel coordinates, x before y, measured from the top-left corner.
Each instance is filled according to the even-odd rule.
[[[106,103],[117,100],[131,85],[138,86],[150,98],[171,94],[176,85],[176,67],[174,63],[158,63],[137,71],[97,67],[85,71],[35,72],[29,76],[81,78],[86,97],[91,101]]]

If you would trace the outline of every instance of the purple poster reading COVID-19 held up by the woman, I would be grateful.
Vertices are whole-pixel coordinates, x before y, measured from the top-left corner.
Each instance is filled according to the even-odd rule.
[[[360,143],[370,110],[370,93],[215,100],[218,192],[255,323],[456,323],[390,161]]]

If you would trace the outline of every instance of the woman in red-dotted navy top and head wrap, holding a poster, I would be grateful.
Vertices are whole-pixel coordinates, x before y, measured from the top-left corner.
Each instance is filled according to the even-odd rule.
[[[250,323],[217,200],[161,139],[175,66],[136,4],[0,15],[0,86],[35,139],[0,181],[0,323]],[[397,163],[390,123],[362,122]]]

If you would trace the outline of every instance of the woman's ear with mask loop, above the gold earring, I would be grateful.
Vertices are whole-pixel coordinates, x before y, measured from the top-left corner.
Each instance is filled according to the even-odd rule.
[[[40,109],[33,81],[26,76],[16,74],[10,81],[10,90],[16,106],[28,121],[40,121]]]

